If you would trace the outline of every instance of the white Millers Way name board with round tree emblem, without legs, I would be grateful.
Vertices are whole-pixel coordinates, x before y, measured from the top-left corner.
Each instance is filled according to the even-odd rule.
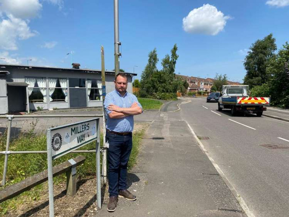
[[[50,128],[52,159],[61,157],[98,138],[98,118]]]

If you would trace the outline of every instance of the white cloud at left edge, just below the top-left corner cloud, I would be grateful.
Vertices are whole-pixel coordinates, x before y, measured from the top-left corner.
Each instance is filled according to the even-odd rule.
[[[0,21],[0,49],[17,50],[17,39],[25,40],[37,34],[31,31],[28,21],[8,15],[8,19]]]

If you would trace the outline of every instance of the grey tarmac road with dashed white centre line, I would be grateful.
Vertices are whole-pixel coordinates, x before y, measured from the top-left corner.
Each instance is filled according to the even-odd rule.
[[[202,139],[203,145],[255,216],[288,216],[289,123],[253,114],[231,116],[217,107],[194,98],[181,105],[181,118],[196,135],[210,138]]]

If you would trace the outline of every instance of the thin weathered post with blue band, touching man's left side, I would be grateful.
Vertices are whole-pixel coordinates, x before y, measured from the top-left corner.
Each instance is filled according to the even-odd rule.
[[[104,67],[104,48],[101,46],[101,79],[102,79],[102,115],[103,115],[103,147],[106,148],[105,143],[105,136],[106,136],[106,113],[104,108],[104,99],[106,95],[106,89],[105,89],[105,67]],[[106,149],[102,152],[102,181],[103,183],[106,183]]]

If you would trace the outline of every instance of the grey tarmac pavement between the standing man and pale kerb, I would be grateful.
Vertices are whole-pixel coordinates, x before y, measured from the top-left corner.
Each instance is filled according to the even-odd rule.
[[[109,213],[105,198],[96,216],[246,216],[186,122],[158,118],[142,147],[128,174],[137,200],[119,198]]]

